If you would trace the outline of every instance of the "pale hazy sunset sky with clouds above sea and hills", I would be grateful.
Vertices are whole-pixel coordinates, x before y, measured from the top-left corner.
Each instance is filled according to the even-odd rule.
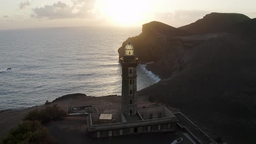
[[[256,0],[1,0],[0,29],[111,26],[160,21],[179,27],[208,13],[256,17]]]

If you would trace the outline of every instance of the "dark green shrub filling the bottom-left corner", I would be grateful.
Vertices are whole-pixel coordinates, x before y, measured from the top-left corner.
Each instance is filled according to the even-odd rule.
[[[2,138],[1,144],[55,144],[39,121],[23,121]]]

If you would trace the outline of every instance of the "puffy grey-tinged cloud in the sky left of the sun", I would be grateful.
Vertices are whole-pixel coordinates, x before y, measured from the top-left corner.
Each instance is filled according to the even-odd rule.
[[[59,1],[53,5],[36,7],[30,16],[33,18],[65,19],[65,18],[92,18],[90,12],[94,9],[95,0],[72,0],[72,7]]]

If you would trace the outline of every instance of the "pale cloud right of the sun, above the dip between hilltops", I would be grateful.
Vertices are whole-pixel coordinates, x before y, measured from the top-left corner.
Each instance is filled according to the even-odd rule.
[[[184,26],[203,18],[209,11],[174,10],[174,12],[155,13],[155,20],[174,27]]]

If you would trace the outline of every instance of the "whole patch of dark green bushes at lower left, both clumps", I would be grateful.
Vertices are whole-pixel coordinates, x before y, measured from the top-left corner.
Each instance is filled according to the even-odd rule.
[[[57,105],[30,111],[17,128],[11,129],[1,139],[0,144],[55,144],[55,141],[49,136],[48,128],[42,124],[65,116],[66,111]]]

